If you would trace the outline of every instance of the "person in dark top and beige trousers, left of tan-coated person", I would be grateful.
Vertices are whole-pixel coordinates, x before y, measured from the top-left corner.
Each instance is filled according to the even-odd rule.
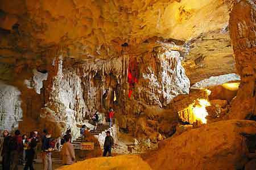
[[[44,136],[42,138],[42,161],[44,170],[52,170],[52,153],[49,151],[49,142],[51,134],[48,133],[48,130],[45,128],[43,130]]]

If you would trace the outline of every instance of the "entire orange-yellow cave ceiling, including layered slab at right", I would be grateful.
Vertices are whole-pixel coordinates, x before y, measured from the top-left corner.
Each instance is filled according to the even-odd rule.
[[[192,82],[233,73],[233,51],[226,30],[232,2],[2,0],[0,73],[8,72],[6,64],[40,65],[43,53],[53,47],[77,60],[108,60],[123,51],[138,55],[170,41],[189,49],[183,66]],[[216,65],[216,60],[220,64]]]

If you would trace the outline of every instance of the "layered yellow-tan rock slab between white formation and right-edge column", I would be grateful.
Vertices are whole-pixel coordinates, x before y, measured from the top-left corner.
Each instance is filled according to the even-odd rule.
[[[203,32],[187,42],[190,50],[183,66],[191,84],[211,76],[237,72],[227,26]]]

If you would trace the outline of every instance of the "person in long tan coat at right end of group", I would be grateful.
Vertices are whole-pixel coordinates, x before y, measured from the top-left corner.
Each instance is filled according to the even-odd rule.
[[[63,144],[63,147],[61,148],[61,157],[63,159],[63,164],[65,165],[71,165],[75,163],[75,150],[73,148],[73,145],[71,143],[70,136],[65,136],[65,142]]]

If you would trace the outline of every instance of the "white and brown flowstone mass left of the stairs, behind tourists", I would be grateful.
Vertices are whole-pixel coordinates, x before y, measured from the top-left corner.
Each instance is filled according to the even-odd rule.
[[[63,56],[56,55],[48,66],[49,78],[46,83],[46,103],[40,114],[40,126],[50,128],[59,136],[71,128],[73,136],[80,134],[77,124],[85,116],[81,78],[76,69],[63,67]]]

